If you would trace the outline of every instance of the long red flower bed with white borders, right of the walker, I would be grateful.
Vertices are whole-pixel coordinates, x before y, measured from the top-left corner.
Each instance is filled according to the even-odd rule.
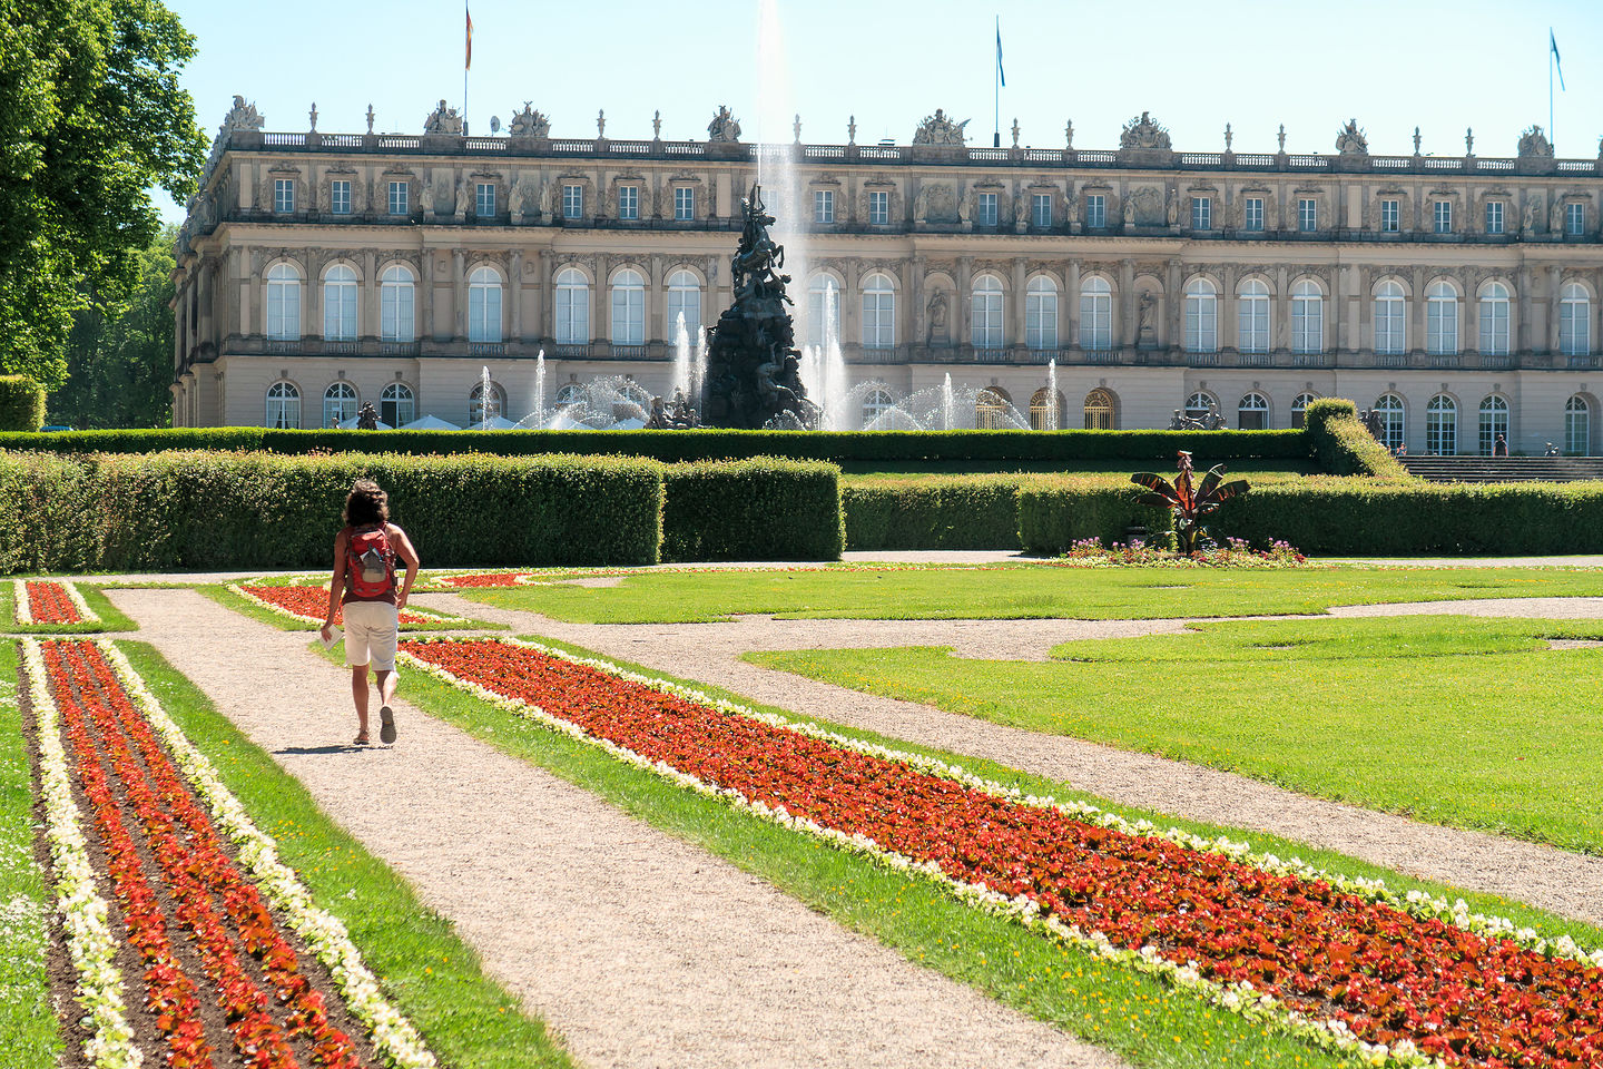
[[[1024,798],[507,641],[406,656],[521,715],[1374,1064],[1603,1064],[1603,952],[1242,845]]]

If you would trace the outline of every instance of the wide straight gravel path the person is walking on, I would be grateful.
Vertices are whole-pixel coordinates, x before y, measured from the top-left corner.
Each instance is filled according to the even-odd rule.
[[[348,675],[305,631],[111,598],[587,1066],[1124,1066],[404,702],[396,747],[340,745]]]

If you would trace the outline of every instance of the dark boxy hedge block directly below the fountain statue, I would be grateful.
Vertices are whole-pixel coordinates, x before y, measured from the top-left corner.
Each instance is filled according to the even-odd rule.
[[[664,561],[835,561],[840,468],[758,457],[664,471]]]

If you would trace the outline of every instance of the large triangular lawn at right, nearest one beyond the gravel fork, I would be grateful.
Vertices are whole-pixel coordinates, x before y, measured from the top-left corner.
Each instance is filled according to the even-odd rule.
[[[1600,622],[1396,617],[1197,625],[1066,643],[1052,662],[947,649],[755,664],[1000,724],[1194,761],[1420,821],[1603,853]]]

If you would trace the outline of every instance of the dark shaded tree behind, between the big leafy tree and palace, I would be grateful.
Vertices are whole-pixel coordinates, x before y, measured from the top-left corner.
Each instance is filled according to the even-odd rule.
[[[50,422],[71,426],[170,426],[173,422],[173,240],[164,228],[138,253],[125,308],[93,301],[72,324],[67,381],[50,396]]]

